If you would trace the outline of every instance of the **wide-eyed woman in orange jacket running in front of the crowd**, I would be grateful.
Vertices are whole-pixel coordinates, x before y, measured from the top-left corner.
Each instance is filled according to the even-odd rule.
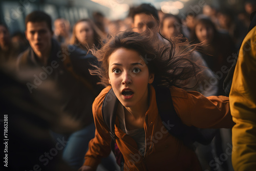
[[[185,125],[232,127],[228,97],[204,97],[175,87],[179,80],[197,77],[198,67],[186,58],[192,51],[177,51],[179,44],[172,41],[161,47],[152,37],[148,32],[121,32],[96,51],[101,66],[92,74],[98,74],[106,88],[93,103],[95,138],[79,170],[96,169],[100,159],[111,152],[111,137],[123,155],[124,170],[201,170],[195,152],[164,126],[156,85],[170,92],[174,109]],[[111,99],[118,99],[113,136],[102,115],[102,109],[111,105],[111,99],[103,105],[108,92],[113,95]]]

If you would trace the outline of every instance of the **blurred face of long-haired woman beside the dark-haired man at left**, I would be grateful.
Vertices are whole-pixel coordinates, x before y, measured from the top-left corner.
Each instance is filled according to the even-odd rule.
[[[75,27],[75,36],[77,40],[84,46],[92,46],[94,44],[94,31],[89,22],[79,22]]]

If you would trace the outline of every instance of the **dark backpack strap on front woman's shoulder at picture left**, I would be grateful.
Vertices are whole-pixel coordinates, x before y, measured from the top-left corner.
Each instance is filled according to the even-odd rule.
[[[102,118],[105,124],[109,127],[112,139],[116,138],[115,122],[118,102],[119,100],[117,99],[113,89],[111,89],[106,94],[102,104]]]

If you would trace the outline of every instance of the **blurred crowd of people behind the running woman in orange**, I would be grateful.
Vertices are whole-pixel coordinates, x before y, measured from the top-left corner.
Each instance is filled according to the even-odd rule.
[[[90,74],[90,69],[98,66],[93,50],[100,49],[108,38],[121,31],[142,33],[150,29],[154,38],[161,39],[162,44],[168,44],[165,38],[175,44],[189,41],[189,44],[181,46],[179,50],[194,50],[189,60],[197,63],[200,72],[196,79],[181,80],[180,87],[198,91],[204,96],[228,96],[229,92],[225,93],[223,89],[224,79],[238,56],[250,25],[249,16],[256,10],[256,3],[248,1],[245,10],[246,12],[237,14],[231,8],[216,9],[205,5],[203,13],[189,13],[186,18],[181,18],[179,15],[157,11],[150,4],[142,4],[131,8],[124,19],[111,21],[102,13],[95,12],[93,18],[81,18],[74,26],[70,25],[69,20],[58,18],[53,22],[54,29],[48,14],[35,11],[26,17],[25,34],[20,32],[12,35],[9,28],[0,23],[1,75],[6,78],[1,86],[3,114],[26,121],[26,124],[10,126],[10,136],[19,137],[13,138],[13,141],[22,139],[21,135],[28,137],[27,140],[25,138],[20,141],[24,146],[20,147],[24,148],[22,151],[14,142],[11,143],[10,148],[15,153],[20,152],[18,154],[21,157],[12,157],[13,162],[10,158],[8,168],[30,170],[34,164],[41,163],[45,170],[77,170],[83,164],[88,143],[95,133],[91,106],[103,88],[97,84],[99,79]],[[182,38],[183,42],[177,42],[176,37]],[[49,78],[50,84],[46,81]],[[52,84],[57,85],[52,90],[54,94],[58,94],[57,100],[41,104],[42,100],[38,101],[37,98],[44,93],[38,92],[44,92]],[[55,99],[52,97],[54,94],[44,94],[47,96],[44,98]],[[28,105],[29,103],[37,105]],[[22,106],[23,104],[27,107]],[[59,108],[52,109],[53,105]],[[51,118],[53,116],[54,119]],[[17,119],[14,121],[18,123]],[[23,129],[26,126],[28,127]],[[33,132],[33,129],[39,131]],[[34,143],[28,143],[30,139]],[[41,142],[41,139],[44,141]],[[55,145],[60,140],[63,145],[61,150]],[[215,140],[207,146],[197,144],[197,155],[204,170],[233,169],[230,158],[219,163],[218,167],[211,162],[225,153],[223,148],[228,143],[231,144],[231,130],[219,131]],[[51,151],[55,146],[57,154]],[[17,156],[14,152],[10,155]],[[20,160],[27,152],[31,159]],[[45,152],[49,152],[51,156],[48,154],[47,157]],[[44,156],[40,158],[40,155]],[[54,159],[51,161],[51,158]],[[48,165],[47,161],[57,164]],[[100,167],[104,170],[118,169],[113,155],[102,161]]]

